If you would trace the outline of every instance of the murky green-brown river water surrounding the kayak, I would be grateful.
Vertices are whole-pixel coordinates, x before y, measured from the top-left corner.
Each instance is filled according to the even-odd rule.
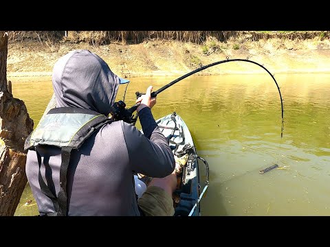
[[[134,104],[135,91],[149,85],[155,91],[175,79],[131,78],[126,105]],[[36,126],[52,96],[50,78],[11,80]],[[155,119],[177,112],[210,165],[202,215],[330,215],[330,75],[276,75],[276,81],[285,100],[283,138],[270,75],[192,75],[157,96]],[[259,174],[273,164],[280,169]],[[15,215],[37,212],[22,206],[30,198],[27,187]]]

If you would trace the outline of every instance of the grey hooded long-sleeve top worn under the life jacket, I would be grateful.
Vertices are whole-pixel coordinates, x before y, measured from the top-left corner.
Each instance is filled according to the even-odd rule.
[[[56,107],[78,107],[108,115],[122,78],[102,58],[88,50],[71,51],[54,65]],[[162,178],[175,168],[173,152],[159,131],[151,109],[139,112],[144,134],[135,126],[115,121],[102,126],[78,150],[67,172],[68,215],[140,215],[133,173]],[[60,189],[61,149],[37,147],[41,174],[51,190]],[[40,189],[36,152],[28,151],[26,174],[39,213],[54,212],[52,200]]]

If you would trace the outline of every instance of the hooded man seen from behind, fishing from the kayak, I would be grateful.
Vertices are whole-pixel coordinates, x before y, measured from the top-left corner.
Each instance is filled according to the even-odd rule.
[[[105,117],[125,82],[88,50],[71,51],[54,65],[56,108],[25,141],[40,215],[174,214],[175,160],[151,114],[152,86],[136,101],[144,134]],[[153,177],[140,207],[134,173]]]

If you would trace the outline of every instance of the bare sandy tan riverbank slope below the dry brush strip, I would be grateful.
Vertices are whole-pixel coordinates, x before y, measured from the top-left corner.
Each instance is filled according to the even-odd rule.
[[[330,73],[329,38],[252,40],[249,34],[220,42],[211,36],[202,44],[177,40],[144,40],[90,45],[69,39],[54,43],[22,40],[8,44],[8,77],[50,76],[58,58],[73,49],[89,49],[124,77],[184,75],[203,65],[226,58],[248,58],[263,64],[271,73]],[[265,73],[255,64],[230,62],[210,67],[199,75]]]

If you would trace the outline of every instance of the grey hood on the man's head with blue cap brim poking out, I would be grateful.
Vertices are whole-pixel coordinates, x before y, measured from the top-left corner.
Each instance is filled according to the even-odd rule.
[[[112,73],[93,52],[70,51],[54,65],[52,82],[56,107],[72,106],[109,115],[119,84],[129,82]]]

